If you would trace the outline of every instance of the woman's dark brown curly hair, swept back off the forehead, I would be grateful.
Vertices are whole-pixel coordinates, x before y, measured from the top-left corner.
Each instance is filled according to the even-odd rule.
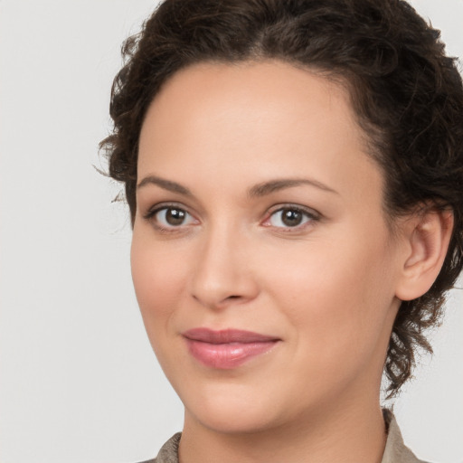
[[[343,83],[385,177],[391,220],[432,204],[454,214],[448,254],[430,290],[403,301],[384,364],[394,396],[411,377],[426,330],[463,266],[463,85],[439,31],[402,0],[166,0],[122,47],[100,147],[136,213],[137,149],[151,101],[176,71],[201,61],[277,59]]]

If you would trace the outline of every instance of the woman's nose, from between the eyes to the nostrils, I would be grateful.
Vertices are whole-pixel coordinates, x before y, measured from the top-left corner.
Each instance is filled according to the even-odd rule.
[[[257,297],[251,243],[227,227],[204,233],[191,276],[191,294],[204,307],[221,309]]]

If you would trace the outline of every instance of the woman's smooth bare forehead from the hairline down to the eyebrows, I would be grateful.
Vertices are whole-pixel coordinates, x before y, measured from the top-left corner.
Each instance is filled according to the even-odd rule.
[[[281,61],[206,62],[177,72],[156,95],[138,175],[187,184],[307,174],[342,184],[347,167],[373,181],[372,163],[344,86]]]

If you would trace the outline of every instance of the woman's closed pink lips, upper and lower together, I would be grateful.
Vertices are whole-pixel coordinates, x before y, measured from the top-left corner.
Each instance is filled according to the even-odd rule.
[[[279,342],[274,336],[237,329],[194,328],[183,335],[196,360],[222,370],[236,368],[253,357],[266,354]]]

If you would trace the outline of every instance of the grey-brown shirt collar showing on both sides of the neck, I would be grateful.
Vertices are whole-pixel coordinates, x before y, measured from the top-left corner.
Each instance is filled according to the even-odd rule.
[[[388,435],[381,463],[425,463],[416,458],[411,449],[403,443],[401,430],[392,412],[383,409],[383,417],[388,429]],[[142,463],[178,463],[178,444],[180,443],[181,436],[182,433],[177,432],[171,439],[165,442],[155,459],[150,459]]]

